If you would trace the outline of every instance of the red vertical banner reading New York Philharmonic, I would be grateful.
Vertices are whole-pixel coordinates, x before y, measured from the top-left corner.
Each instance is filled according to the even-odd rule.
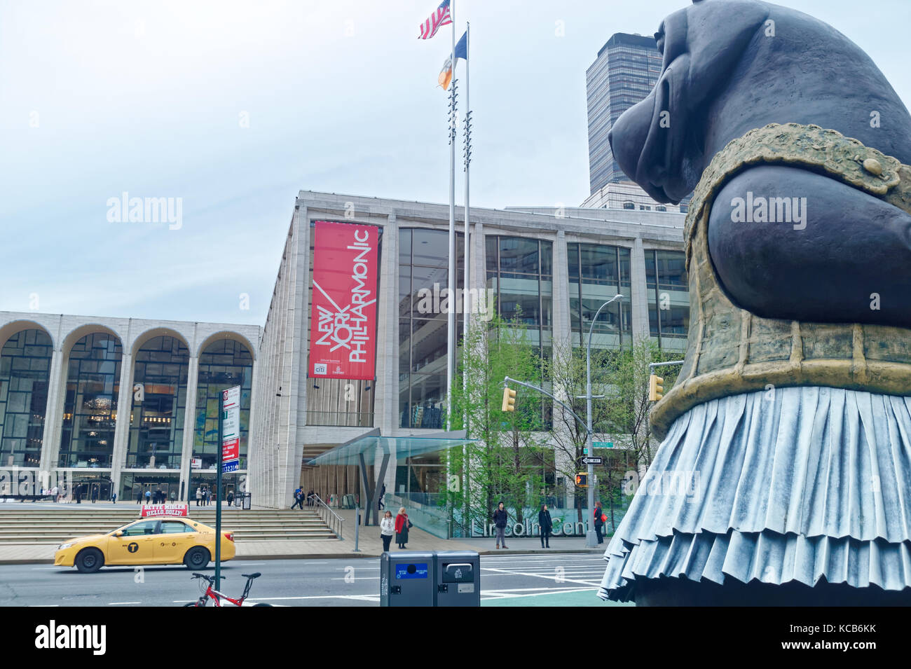
[[[373,380],[379,229],[318,220],[315,234],[308,376]]]

